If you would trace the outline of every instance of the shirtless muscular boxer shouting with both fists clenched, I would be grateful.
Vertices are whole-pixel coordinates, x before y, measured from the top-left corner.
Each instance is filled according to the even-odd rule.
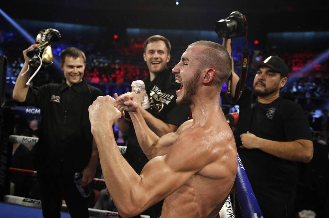
[[[219,105],[219,92],[231,73],[231,60],[219,44],[191,44],[173,68],[182,85],[177,103],[188,105],[193,120],[159,138],[138,110],[136,93],[98,97],[89,107],[91,132],[104,179],[122,217],[131,217],[164,200],[162,218],[215,217],[234,183],[237,150]],[[140,175],[121,156],[112,125],[129,112],[139,144],[150,161]]]

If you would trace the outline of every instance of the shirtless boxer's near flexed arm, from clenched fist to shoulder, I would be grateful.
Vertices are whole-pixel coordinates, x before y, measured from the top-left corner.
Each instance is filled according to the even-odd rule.
[[[114,107],[114,101],[110,96],[98,97],[89,106],[89,119],[107,188],[122,217],[135,216],[161,201],[218,159],[212,150],[200,146],[197,139],[203,131],[196,129],[182,133],[168,154],[150,160],[138,175],[122,157],[115,142],[112,125],[121,113]],[[186,157],[182,157],[182,150]],[[200,159],[200,156],[207,158]]]

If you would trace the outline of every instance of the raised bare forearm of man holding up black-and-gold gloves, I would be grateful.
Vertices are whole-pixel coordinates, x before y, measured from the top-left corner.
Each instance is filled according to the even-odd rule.
[[[16,80],[14,90],[13,90],[13,99],[16,101],[20,101],[20,102],[25,101],[27,91],[29,90],[29,86],[26,85],[26,82],[29,80],[30,73],[31,73],[31,69],[29,69],[29,71],[26,72],[26,74],[22,75],[27,70],[27,67],[29,65],[29,60],[31,59],[26,55],[26,53],[30,49],[37,47],[37,46],[38,46],[38,44],[31,45],[29,48],[27,48],[23,51],[24,65],[23,65],[19,75],[17,76],[17,80]]]

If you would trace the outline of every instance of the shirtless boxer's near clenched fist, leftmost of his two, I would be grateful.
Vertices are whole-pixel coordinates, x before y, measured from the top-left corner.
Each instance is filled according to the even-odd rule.
[[[115,100],[111,96],[99,96],[89,106],[89,120],[91,127],[100,127],[101,124],[113,125],[121,117],[121,112],[114,107]]]

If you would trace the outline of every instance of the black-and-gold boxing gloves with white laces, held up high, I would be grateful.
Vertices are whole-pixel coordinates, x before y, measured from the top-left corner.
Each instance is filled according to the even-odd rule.
[[[30,77],[30,79],[27,81],[26,85],[30,84],[30,81],[41,67],[44,69],[47,69],[48,67],[52,66],[53,63],[53,52],[51,50],[51,43],[57,42],[61,38],[61,33],[58,30],[55,29],[44,29],[41,30],[36,38],[36,43],[39,45],[37,47],[34,47],[33,49],[30,49],[26,55],[30,57],[29,65],[27,67],[27,70],[22,74],[22,76],[28,72],[30,67],[32,69],[36,69],[34,74]]]

